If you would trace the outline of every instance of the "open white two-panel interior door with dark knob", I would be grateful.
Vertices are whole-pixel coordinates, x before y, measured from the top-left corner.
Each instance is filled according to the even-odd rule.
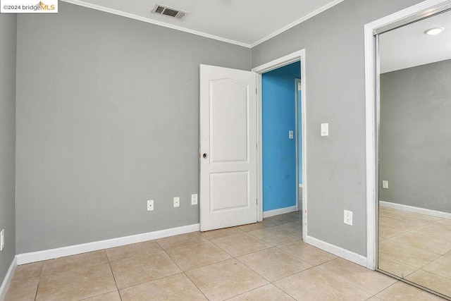
[[[257,222],[257,74],[200,66],[200,229]]]

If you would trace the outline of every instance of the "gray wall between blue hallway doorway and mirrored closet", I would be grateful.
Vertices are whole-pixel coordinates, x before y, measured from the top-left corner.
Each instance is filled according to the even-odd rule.
[[[308,234],[365,257],[364,24],[419,2],[346,0],[252,49],[252,67],[306,49]]]

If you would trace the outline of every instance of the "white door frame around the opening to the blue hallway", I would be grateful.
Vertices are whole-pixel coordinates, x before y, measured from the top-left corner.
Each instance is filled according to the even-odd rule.
[[[262,120],[261,120],[261,74],[287,66],[290,63],[301,61],[301,86],[302,86],[302,238],[307,237],[307,118],[306,118],[306,77],[305,77],[305,49],[293,52],[279,59],[275,59],[261,66],[252,68],[257,73],[257,221],[263,220],[263,173],[262,173]],[[298,185],[298,183],[296,183]],[[298,205],[299,206],[299,205]]]

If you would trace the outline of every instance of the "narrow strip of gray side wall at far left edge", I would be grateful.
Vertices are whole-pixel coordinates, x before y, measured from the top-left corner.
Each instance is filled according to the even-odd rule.
[[[16,255],[16,15],[0,14],[0,285]]]

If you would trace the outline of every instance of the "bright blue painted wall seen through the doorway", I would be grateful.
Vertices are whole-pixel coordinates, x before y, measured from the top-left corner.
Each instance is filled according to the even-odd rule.
[[[300,62],[262,75],[263,211],[296,205],[296,85]],[[299,108],[300,109],[300,108]]]

